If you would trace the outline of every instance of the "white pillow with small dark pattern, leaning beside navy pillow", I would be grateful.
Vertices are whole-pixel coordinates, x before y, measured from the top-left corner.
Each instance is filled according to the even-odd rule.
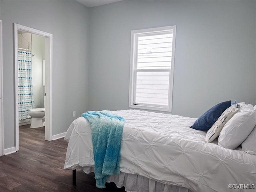
[[[221,116],[216,120],[212,127],[207,131],[205,142],[210,143],[216,139],[226,122],[238,111],[238,105],[232,105],[227,108]]]

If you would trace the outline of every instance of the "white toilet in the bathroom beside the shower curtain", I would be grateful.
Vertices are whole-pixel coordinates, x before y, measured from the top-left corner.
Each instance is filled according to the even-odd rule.
[[[45,105],[46,96],[44,96],[44,105]],[[32,117],[30,128],[38,128],[44,126],[44,116],[45,116],[45,108],[35,108],[29,109],[28,115]]]

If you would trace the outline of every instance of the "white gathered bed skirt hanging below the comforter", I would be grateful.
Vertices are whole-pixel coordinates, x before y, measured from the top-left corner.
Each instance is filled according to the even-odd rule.
[[[82,170],[89,174],[94,172],[94,167],[83,167]],[[185,187],[163,184],[144,176],[124,172],[111,175],[107,182],[114,182],[118,188],[124,186],[126,192],[192,192]]]

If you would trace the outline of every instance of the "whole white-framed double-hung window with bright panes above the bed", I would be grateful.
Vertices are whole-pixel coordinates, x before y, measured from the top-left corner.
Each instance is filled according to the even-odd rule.
[[[176,26],[133,30],[129,107],[172,111]]]

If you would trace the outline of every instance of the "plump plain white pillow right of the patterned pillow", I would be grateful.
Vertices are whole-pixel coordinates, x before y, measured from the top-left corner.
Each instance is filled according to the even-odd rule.
[[[256,125],[256,109],[251,104],[242,105],[238,112],[224,125],[218,145],[228,149],[237,148]]]

